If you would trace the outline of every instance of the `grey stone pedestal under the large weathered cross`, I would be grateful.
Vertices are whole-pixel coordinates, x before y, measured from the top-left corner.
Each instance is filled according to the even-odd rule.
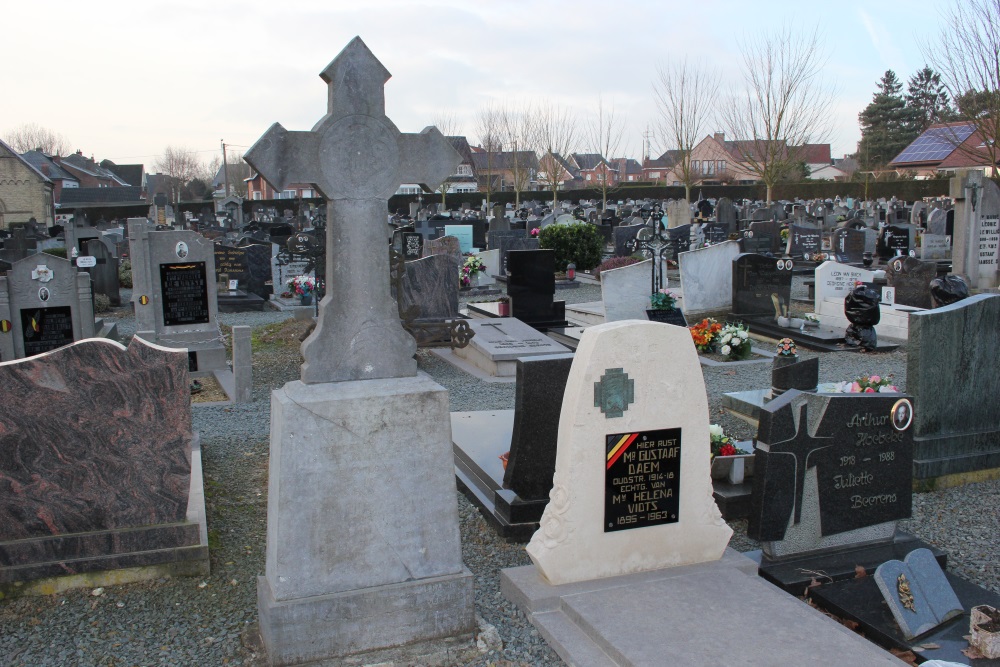
[[[450,424],[423,374],[272,393],[257,585],[272,665],[471,638]]]

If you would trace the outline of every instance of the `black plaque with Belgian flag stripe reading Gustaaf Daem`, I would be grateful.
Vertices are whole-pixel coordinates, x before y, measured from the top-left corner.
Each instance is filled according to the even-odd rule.
[[[606,436],[604,532],[676,523],[681,429]]]

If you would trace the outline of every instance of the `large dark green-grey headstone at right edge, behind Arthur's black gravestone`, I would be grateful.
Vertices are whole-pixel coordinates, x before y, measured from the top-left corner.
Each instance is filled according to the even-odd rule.
[[[906,390],[914,416],[918,485],[1000,467],[1000,414],[984,397],[1000,392],[1000,297],[979,294],[910,315]]]

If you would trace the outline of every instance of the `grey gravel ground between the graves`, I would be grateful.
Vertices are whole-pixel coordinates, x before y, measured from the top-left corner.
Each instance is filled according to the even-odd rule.
[[[796,291],[804,291],[796,279]],[[671,284],[675,284],[672,282]],[[600,299],[600,288],[565,290],[567,302]],[[128,303],[123,295],[123,302]],[[130,336],[128,308],[111,317]],[[306,323],[277,312],[220,314],[224,331],[253,327],[253,396],[250,403],[198,406],[194,428],[201,435],[212,573],[146,583],[77,589],[48,596],[0,600],[0,663],[4,665],[264,665],[254,638],[256,578],[264,571],[270,393],[298,378],[299,337]],[[751,335],[753,332],[751,331]],[[770,348],[770,343],[758,342]],[[809,358],[816,353],[801,351]],[[510,409],[514,385],[486,383],[425,350],[419,367],[449,390],[452,411]],[[768,386],[769,364],[703,366],[713,422],[727,434],[749,439],[744,422],[724,414],[727,391]],[[905,345],[885,354],[821,353],[820,381],[852,379],[864,373],[892,374],[905,386]],[[664,378],[669,382],[669,378]],[[401,443],[405,446],[405,443]],[[708,444],[706,443],[706,446]],[[948,569],[1000,592],[1000,481],[915,494],[913,518],[903,530],[949,553]],[[475,576],[476,612],[482,652],[465,665],[562,664],[537,631],[500,593],[500,570],[529,563],[524,545],[496,536],[478,511],[457,494],[462,557]],[[377,498],[369,499],[378,502]],[[757,548],[744,521],[732,522],[730,546]],[[725,631],[738,618],[706,619]],[[492,626],[495,630],[483,631]],[[665,628],[665,631],[667,629]],[[933,651],[926,657],[932,658]],[[734,663],[739,662],[734,656]]]

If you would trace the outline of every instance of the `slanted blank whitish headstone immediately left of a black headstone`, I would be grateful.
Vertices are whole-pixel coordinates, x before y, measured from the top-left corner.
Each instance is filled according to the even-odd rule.
[[[679,256],[684,314],[694,320],[712,313],[729,312],[733,304],[733,260],[739,241],[725,241]]]

